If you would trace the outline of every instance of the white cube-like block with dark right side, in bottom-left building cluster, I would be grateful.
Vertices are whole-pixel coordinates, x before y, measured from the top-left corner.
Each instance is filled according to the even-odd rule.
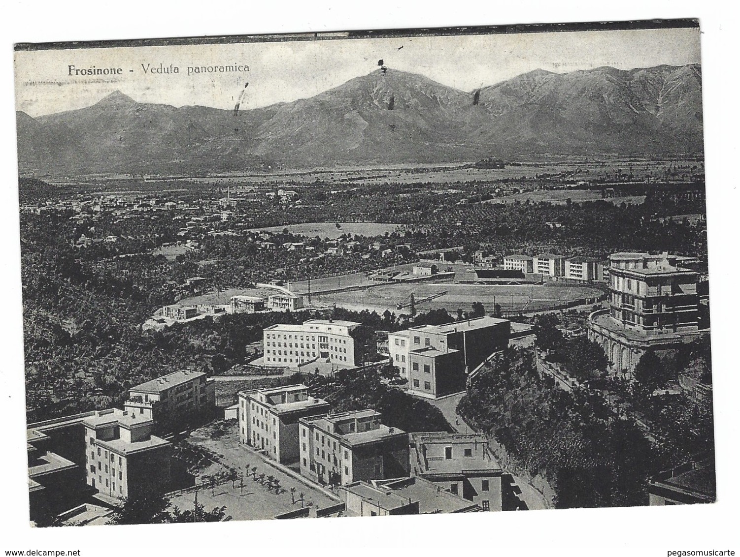
[[[152,435],[154,420],[112,409],[83,424],[87,485],[117,498],[167,491],[172,444]]]

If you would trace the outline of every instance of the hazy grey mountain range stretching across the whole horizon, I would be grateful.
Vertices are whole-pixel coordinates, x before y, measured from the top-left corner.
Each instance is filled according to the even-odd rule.
[[[17,129],[19,169],[37,174],[699,154],[702,73],[698,64],[535,70],[464,92],[388,69],[238,115],[113,92],[84,109],[18,112]]]

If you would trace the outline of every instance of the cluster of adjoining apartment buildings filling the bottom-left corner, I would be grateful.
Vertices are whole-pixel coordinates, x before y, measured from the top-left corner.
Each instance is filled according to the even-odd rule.
[[[215,409],[203,372],[174,372],[132,387],[124,409],[90,411],[27,428],[30,518],[84,503],[166,491],[172,444],[160,437]],[[159,435],[158,435],[159,434]]]

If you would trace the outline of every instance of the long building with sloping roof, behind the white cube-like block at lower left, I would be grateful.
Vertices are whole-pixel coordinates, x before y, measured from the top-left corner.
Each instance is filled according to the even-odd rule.
[[[215,409],[215,383],[205,372],[180,371],[129,389],[124,409],[167,428]]]

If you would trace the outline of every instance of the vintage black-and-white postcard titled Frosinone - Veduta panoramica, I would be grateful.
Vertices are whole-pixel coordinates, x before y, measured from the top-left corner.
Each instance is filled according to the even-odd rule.
[[[714,502],[699,36],[16,45],[30,521]]]

